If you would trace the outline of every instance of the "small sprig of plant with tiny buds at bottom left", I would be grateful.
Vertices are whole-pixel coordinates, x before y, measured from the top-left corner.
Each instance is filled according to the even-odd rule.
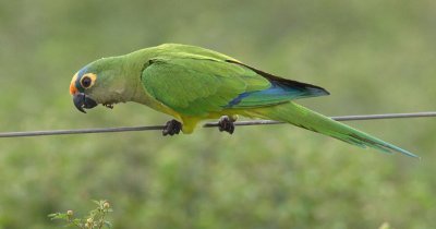
[[[81,229],[101,229],[105,226],[112,228],[112,224],[106,220],[106,216],[112,212],[109,202],[107,201],[93,201],[97,204],[97,208],[89,212],[86,217],[75,218],[73,210],[66,213],[53,213],[48,215],[51,220],[61,219],[65,220],[65,227],[76,227]]]

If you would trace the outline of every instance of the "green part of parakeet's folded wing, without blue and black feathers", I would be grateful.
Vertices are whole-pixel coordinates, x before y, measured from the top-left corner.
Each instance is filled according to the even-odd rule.
[[[271,85],[243,65],[189,57],[149,61],[142,82],[153,97],[185,116],[219,112],[240,94]]]

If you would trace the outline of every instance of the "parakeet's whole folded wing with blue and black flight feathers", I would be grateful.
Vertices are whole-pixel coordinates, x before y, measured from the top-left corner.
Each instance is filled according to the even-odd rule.
[[[237,60],[192,46],[161,47],[145,65],[145,89],[185,116],[250,109],[328,95],[322,87],[271,75]]]

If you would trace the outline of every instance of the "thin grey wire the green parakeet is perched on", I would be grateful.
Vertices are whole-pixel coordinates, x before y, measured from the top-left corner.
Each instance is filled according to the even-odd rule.
[[[374,120],[374,119],[405,119],[405,118],[423,118],[436,117],[436,111],[414,112],[414,113],[383,113],[383,114],[362,114],[362,116],[338,116],[330,117],[336,121],[356,121],[356,120]],[[238,121],[234,125],[262,125],[262,124],[281,124],[284,122],[272,120],[251,120]],[[203,128],[216,128],[218,122],[208,122]],[[56,131],[25,131],[25,132],[3,132],[0,137],[23,137],[23,136],[47,136],[47,135],[65,135],[65,134],[89,134],[89,133],[113,133],[113,132],[132,132],[132,131],[161,131],[165,125],[148,126],[123,126],[123,128],[100,128],[100,129],[78,129],[78,130],[56,130]]]

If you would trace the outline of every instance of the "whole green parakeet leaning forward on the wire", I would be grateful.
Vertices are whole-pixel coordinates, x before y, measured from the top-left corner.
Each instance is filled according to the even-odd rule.
[[[85,112],[101,104],[136,101],[175,118],[164,135],[193,132],[199,121],[219,119],[232,133],[238,114],[289,122],[352,145],[385,153],[414,154],[331,120],[294,103],[329,93],[312,84],[279,77],[201,47],[166,44],[102,58],[72,79],[74,105]]]

